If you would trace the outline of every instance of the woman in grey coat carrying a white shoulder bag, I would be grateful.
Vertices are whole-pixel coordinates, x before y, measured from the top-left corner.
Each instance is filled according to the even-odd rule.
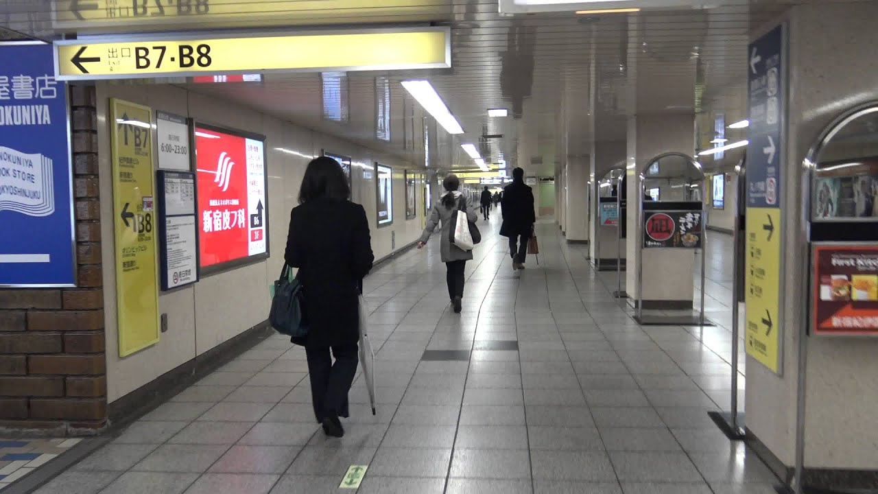
[[[464,269],[466,267],[466,261],[472,258],[472,251],[464,251],[449,240],[451,229],[454,228],[454,225],[451,223],[451,218],[458,208],[466,210],[466,219],[471,223],[479,220],[479,214],[470,207],[470,200],[466,199],[464,194],[457,191],[460,187],[460,180],[457,179],[457,175],[452,173],[446,176],[442,185],[446,191],[445,195],[443,195],[439,204],[436,204],[430,211],[430,216],[427,220],[427,228],[424,229],[421,239],[418,240],[418,249],[423,248],[427,243],[430,234],[433,233],[436,225],[438,225],[441,220],[442,242],[440,245],[442,247],[440,251],[442,253],[442,262],[445,263],[448,270],[446,274],[446,280],[448,281],[448,295],[451,299],[451,304],[454,306],[455,313],[459,314],[461,310],[461,301],[464,298]]]

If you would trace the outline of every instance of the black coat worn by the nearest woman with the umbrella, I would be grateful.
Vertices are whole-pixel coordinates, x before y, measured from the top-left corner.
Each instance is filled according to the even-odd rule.
[[[371,270],[369,222],[359,204],[316,199],[294,207],[284,259],[299,268],[311,348],[350,345],[359,338],[359,294]]]

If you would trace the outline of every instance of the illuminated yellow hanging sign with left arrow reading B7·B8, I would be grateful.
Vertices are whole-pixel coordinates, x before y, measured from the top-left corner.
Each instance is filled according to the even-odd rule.
[[[55,41],[54,47],[60,80],[451,67],[448,27],[101,36]]]

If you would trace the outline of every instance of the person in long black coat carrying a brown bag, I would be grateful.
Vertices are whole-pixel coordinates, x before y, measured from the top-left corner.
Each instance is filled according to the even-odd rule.
[[[524,185],[522,168],[515,168],[512,171],[512,184],[503,188],[500,207],[503,214],[500,235],[509,238],[512,270],[524,269],[528,240],[533,235],[536,214],[534,214],[534,192],[528,185]]]

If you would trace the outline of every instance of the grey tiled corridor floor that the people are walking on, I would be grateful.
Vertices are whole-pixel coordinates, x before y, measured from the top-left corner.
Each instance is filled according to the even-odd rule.
[[[314,423],[305,353],[278,336],[39,492],[320,494],[351,465],[368,465],[363,493],[774,492],[707,415],[730,394],[727,251],[709,262],[716,327],[641,328],[557,227],[539,225],[540,265],[519,273],[483,229],[460,315],[435,242],[366,280],[378,414],[356,381],[342,440]]]

